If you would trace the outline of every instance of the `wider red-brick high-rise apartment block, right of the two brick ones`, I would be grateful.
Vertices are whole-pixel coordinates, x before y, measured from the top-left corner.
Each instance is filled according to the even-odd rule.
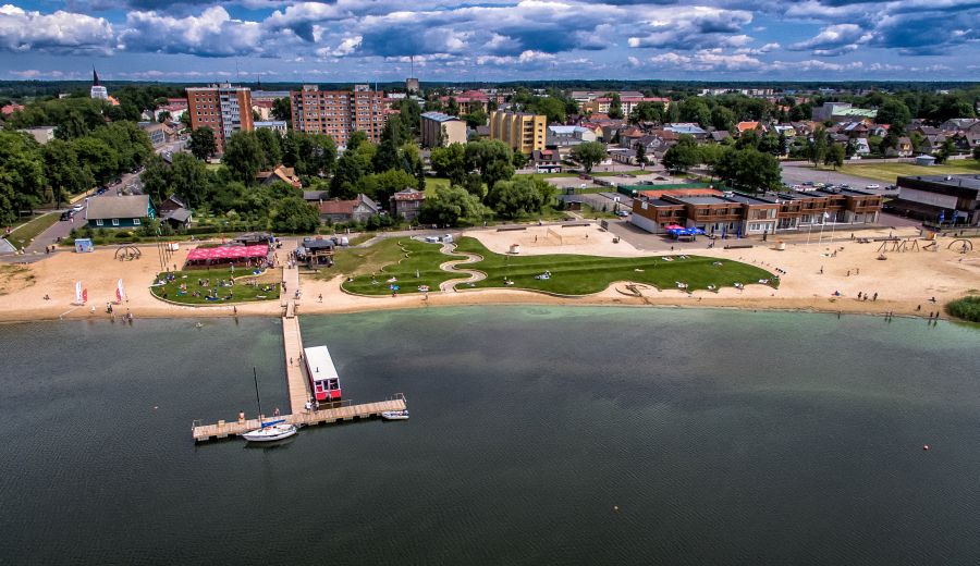
[[[354,132],[367,134],[378,142],[384,128],[384,93],[356,85],[351,90],[319,90],[318,85],[304,85],[290,93],[293,128],[310,134],[326,134],[339,146],[346,146]]]

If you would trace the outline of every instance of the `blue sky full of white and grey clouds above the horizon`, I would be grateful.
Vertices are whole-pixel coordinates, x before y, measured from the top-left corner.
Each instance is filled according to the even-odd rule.
[[[980,0],[0,0],[0,78],[980,81]]]

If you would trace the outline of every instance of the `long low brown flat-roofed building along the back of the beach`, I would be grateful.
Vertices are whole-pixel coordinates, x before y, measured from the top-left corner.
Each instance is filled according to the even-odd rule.
[[[862,190],[812,190],[747,195],[713,188],[645,190],[633,200],[630,222],[653,234],[666,226],[707,234],[752,235],[822,224],[874,224],[882,197]]]

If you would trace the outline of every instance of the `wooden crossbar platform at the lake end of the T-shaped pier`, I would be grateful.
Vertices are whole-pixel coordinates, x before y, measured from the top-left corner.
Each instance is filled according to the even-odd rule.
[[[358,420],[380,417],[385,410],[403,410],[406,408],[405,396],[396,393],[388,401],[379,401],[377,403],[365,403],[362,405],[353,405],[344,402],[335,408],[327,408],[320,410],[306,411],[303,407],[298,413],[285,415],[282,417],[266,417],[265,420],[285,420],[297,427],[309,427],[313,424],[331,424],[345,420]],[[235,436],[259,428],[261,423],[259,419],[246,419],[241,421],[225,422],[219,420],[216,424],[197,424],[193,428],[195,442],[207,442],[209,440],[225,439]]]

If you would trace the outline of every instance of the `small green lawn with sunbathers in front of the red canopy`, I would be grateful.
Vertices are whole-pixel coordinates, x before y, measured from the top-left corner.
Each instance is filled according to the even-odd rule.
[[[246,268],[235,269],[234,275],[237,276],[237,280],[234,284],[232,286],[219,286],[218,283],[221,280],[228,282],[232,279],[232,271],[230,269],[194,269],[175,271],[172,272],[174,276],[173,281],[167,282],[166,285],[154,286],[151,287],[151,291],[157,297],[183,305],[230,305],[233,303],[279,300],[279,276],[270,278],[270,275],[277,272],[266,272],[262,275],[257,276],[258,285],[247,284],[247,281],[250,278],[244,275],[247,275],[248,273],[250,273],[250,271]],[[157,276],[157,281],[163,280],[166,275],[167,273],[161,273]],[[204,279],[210,280],[210,286],[205,287],[198,285],[198,280]],[[181,284],[187,286],[185,293],[181,291]],[[262,287],[266,288],[264,290]],[[206,298],[209,292],[213,290],[218,291],[220,300],[208,300]],[[199,292],[200,296],[194,296],[194,292]],[[232,298],[225,298],[229,295],[231,295]]]

